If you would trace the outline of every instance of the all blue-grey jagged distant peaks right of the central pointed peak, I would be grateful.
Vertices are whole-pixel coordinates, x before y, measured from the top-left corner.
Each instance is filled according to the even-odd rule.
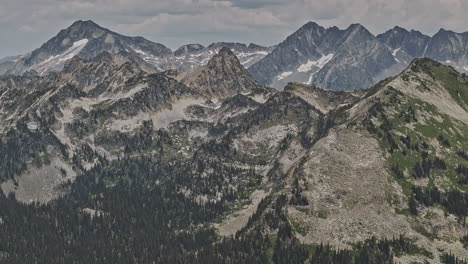
[[[399,73],[418,57],[468,71],[467,36],[441,30],[431,38],[401,27],[374,36],[359,24],[340,30],[309,22],[249,72],[278,89],[291,81],[331,90],[364,89]]]

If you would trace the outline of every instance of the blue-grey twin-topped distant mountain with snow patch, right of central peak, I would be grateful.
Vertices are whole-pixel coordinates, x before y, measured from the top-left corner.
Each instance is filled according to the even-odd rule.
[[[388,48],[361,25],[339,30],[310,22],[249,72],[279,89],[296,81],[332,90],[356,90],[397,73],[396,63]]]

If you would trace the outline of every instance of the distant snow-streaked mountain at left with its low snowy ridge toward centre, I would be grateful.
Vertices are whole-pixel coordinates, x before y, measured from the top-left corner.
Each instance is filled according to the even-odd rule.
[[[166,46],[145,38],[123,36],[93,21],[80,20],[31,53],[2,59],[0,75],[23,74],[28,71],[35,71],[39,75],[58,72],[74,56],[93,58],[102,52],[127,52],[140,57],[158,71],[176,69],[185,72],[206,64],[222,47],[231,48],[246,67],[272,50],[255,44],[247,46],[241,43],[218,42],[206,48],[200,44],[184,45],[172,52]]]

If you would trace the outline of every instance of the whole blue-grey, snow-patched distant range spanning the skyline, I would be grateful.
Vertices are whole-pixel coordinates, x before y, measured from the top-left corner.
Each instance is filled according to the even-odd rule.
[[[272,47],[218,42],[204,47],[188,44],[171,51],[142,37],[126,37],[92,21],[77,21],[39,49],[0,62],[0,74],[59,71],[73,56],[92,58],[103,51],[125,51],[157,71],[189,72],[205,65],[222,47],[230,48],[252,76],[269,87],[288,82],[330,90],[358,90],[398,74],[414,58],[427,57],[468,72],[468,33],[441,29],[429,37],[394,27],[374,36],[360,24],[346,29],[309,22]]]

